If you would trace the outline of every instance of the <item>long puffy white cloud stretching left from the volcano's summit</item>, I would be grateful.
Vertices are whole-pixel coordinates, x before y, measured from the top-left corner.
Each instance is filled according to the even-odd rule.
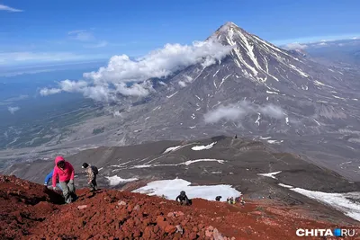
[[[163,49],[151,51],[136,60],[126,55],[113,56],[106,67],[83,75],[88,84],[65,80],[58,84],[58,88],[42,89],[40,93],[78,92],[96,101],[113,101],[118,94],[144,97],[155,91],[151,82],[147,81],[149,78],[171,76],[175,71],[193,64],[208,67],[224,58],[231,49],[211,40],[195,41],[191,46],[166,44]],[[192,80],[192,77],[185,76],[186,82]]]

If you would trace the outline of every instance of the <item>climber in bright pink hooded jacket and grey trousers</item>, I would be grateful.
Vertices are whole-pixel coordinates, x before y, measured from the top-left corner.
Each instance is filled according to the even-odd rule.
[[[74,167],[72,164],[65,161],[64,157],[55,157],[54,173],[52,174],[52,188],[56,190],[56,179],[62,188],[65,202],[71,203],[76,200],[75,184],[74,184]]]

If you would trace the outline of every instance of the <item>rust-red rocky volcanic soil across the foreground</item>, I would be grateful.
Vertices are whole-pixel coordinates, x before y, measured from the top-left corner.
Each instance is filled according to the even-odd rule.
[[[61,196],[40,184],[0,175],[0,239],[290,240],[300,239],[297,228],[342,227],[261,202],[195,199],[193,206],[179,206],[129,191],[76,192],[76,202],[59,204]]]

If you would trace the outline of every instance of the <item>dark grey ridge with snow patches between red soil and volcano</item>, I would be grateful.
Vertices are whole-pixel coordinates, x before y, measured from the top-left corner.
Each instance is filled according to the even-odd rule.
[[[338,209],[360,220],[360,212],[356,210],[360,203],[360,182],[348,182],[337,173],[307,163],[298,156],[276,153],[261,142],[223,136],[187,142],[160,141],[88,149],[67,156],[67,161],[75,167],[76,187],[87,186],[81,169],[87,162],[98,167],[97,182],[104,188],[135,190],[148,182],[166,180],[157,195],[167,196],[173,189],[175,193],[188,189],[192,198],[203,198],[188,184],[176,183],[174,179],[178,178],[192,186],[233,186],[251,200],[271,199],[285,205],[321,209],[327,219],[341,215],[335,210]],[[5,174],[41,183],[53,166],[52,160],[14,164]],[[212,190],[205,194],[205,199],[214,200],[219,194],[219,190]],[[311,200],[312,196],[318,197]],[[226,200],[224,196],[223,200]],[[329,207],[322,205],[324,203]]]

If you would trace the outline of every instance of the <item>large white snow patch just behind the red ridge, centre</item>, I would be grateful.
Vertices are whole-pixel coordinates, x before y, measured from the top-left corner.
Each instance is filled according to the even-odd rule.
[[[215,200],[217,196],[222,196],[221,201],[226,201],[228,197],[238,197],[240,191],[232,188],[231,185],[202,185],[190,186],[192,183],[183,179],[160,180],[149,182],[148,185],[141,187],[133,192],[145,193],[149,196],[166,196],[168,200],[175,200],[180,191],[185,191],[189,199],[200,198],[204,200]]]

